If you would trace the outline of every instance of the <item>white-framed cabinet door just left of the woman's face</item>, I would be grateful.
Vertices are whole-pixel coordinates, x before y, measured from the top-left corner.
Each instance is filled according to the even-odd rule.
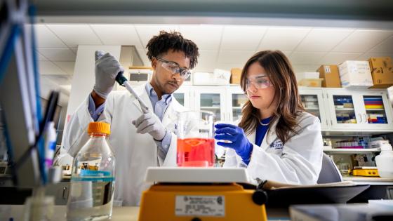
[[[248,100],[247,95],[241,90],[239,86],[229,87],[229,93],[227,93],[227,114],[229,115],[228,121],[234,122],[240,119],[241,109]]]

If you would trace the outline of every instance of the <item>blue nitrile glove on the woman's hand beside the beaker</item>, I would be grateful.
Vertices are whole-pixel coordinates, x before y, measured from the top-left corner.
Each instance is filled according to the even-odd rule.
[[[253,144],[248,141],[244,130],[238,126],[228,123],[218,123],[215,125],[215,140],[229,140],[230,142],[217,142],[222,147],[230,147],[235,150],[237,155],[241,156],[244,163],[250,162]]]

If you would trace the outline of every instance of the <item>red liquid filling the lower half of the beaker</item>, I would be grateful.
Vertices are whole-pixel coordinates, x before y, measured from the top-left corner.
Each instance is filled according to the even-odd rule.
[[[207,167],[214,164],[213,138],[178,139],[178,166]]]

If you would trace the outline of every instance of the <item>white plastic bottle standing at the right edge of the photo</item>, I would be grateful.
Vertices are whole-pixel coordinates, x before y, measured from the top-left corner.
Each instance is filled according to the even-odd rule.
[[[392,145],[381,145],[381,152],[375,156],[378,173],[381,178],[393,178],[393,150]]]

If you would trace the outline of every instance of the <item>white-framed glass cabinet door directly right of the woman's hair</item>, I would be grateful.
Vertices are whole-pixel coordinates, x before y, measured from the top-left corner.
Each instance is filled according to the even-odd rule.
[[[317,116],[321,121],[321,130],[328,130],[328,117],[326,116],[324,89],[322,88],[300,88],[302,105],[307,112]]]

